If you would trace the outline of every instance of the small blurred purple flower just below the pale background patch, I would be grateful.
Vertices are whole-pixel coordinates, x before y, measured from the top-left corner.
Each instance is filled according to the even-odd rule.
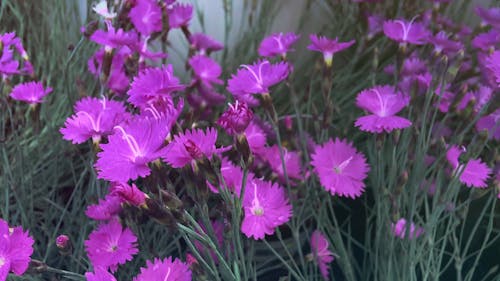
[[[204,85],[211,87],[210,83],[223,83],[219,79],[222,68],[215,60],[204,55],[196,55],[189,59],[189,65],[193,68],[196,79]]]

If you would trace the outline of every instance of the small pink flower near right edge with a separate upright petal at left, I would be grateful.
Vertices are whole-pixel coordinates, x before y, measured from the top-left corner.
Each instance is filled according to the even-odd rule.
[[[454,173],[459,175],[460,182],[467,187],[486,188],[488,186],[486,181],[492,173],[491,169],[481,162],[481,159],[470,159],[467,163],[460,163],[461,153],[462,151],[456,145],[446,152],[446,159],[453,166]]]

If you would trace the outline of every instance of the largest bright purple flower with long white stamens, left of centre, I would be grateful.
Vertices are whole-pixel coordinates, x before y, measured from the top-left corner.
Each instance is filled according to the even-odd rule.
[[[136,117],[115,126],[97,154],[98,178],[123,183],[149,175],[148,163],[164,155],[163,143],[169,132],[167,118]]]

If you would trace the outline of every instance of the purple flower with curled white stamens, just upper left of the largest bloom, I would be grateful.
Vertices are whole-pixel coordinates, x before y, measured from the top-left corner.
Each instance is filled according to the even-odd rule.
[[[74,144],[92,138],[99,142],[101,137],[113,132],[113,128],[128,118],[125,105],[119,101],[86,97],[75,104],[75,114],[64,123],[60,132],[63,139]]]

